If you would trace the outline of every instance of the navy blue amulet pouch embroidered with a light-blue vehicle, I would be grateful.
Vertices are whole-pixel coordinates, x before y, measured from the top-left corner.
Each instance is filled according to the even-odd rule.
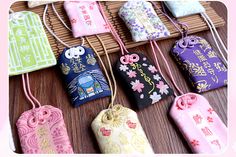
[[[58,65],[74,106],[110,96],[111,92],[90,48],[66,48],[59,56]]]

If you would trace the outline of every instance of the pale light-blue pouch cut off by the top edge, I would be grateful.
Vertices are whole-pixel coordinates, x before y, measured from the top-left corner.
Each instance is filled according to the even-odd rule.
[[[164,1],[174,17],[183,17],[205,12],[205,8],[196,0]]]

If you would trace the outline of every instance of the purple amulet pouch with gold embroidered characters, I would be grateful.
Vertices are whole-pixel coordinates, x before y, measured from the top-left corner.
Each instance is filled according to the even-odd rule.
[[[171,54],[196,92],[227,85],[227,68],[205,39],[185,37],[176,42]]]

